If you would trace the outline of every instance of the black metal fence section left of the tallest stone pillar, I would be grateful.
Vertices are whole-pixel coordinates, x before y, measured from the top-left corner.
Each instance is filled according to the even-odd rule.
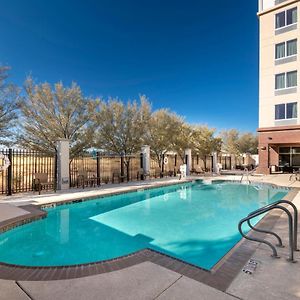
[[[55,155],[20,149],[0,149],[0,153],[10,161],[10,166],[0,172],[1,194],[32,191],[37,173],[46,173],[49,183],[56,181]]]

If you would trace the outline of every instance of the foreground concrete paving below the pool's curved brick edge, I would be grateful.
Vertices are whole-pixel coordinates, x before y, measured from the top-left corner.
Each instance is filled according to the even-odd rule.
[[[2,283],[2,288],[1,288]],[[143,300],[143,299],[235,299],[207,285],[151,262],[90,277],[60,281],[9,282],[0,299],[39,300]],[[5,291],[3,281],[1,291]]]

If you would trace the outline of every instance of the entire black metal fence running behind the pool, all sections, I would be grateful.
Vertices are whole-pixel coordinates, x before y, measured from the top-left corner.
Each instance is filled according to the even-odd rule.
[[[56,157],[47,154],[19,149],[0,149],[10,161],[7,169],[0,171],[0,193],[12,195],[33,191],[34,178],[38,173],[47,174],[49,183],[56,183]],[[175,176],[185,158],[177,154],[166,154],[159,164],[155,157],[150,161],[150,178]],[[241,158],[218,156],[222,168],[230,170],[242,165]],[[3,162],[2,162],[3,164]],[[1,165],[1,160],[0,160]],[[99,152],[90,153],[70,160],[70,187],[101,185],[141,179],[141,155],[107,156]],[[212,171],[212,156],[200,158],[192,156],[192,170]],[[81,179],[81,180],[80,180]],[[55,186],[55,184],[53,185]]]

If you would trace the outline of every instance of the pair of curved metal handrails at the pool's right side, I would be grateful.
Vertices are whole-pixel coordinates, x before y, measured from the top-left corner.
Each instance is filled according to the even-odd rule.
[[[293,218],[292,214],[290,213],[290,211],[285,206],[282,206],[281,204],[288,204],[288,205],[290,205],[293,208],[294,218]],[[281,240],[281,238],[279,237],[278,234],[276,234],[275,232],[272,232],[272,231],[262,230],[262,229],[255,228],[251,224],[251,219],[253,219],[253,218],[257,217],[257,216],[260,216],[260,215],[262,215],[262,214],[264,214],[264,213],[266,213],[268,211],[271,211],[273,209],[280,209],[280,210],[284,211],[287,214],[287,216],[288,216],[288,225],[289,225],[289,258],[288,258],[288,261],[295,262],[295,260],[294,260],[294,251],[299,251],[299,249],[297,248],[298,210],[297,210],[297,207],[295,206],[295,204],[292,203],[291,201],[288,201],[288,200],[279,200],[279,201],[276,201],[274,203],[268,204],[268,205],[266,205],[266,206],[264,206],[262,208],[259,208],[259,209],[255,210],[255,211],[251,212],[247,217],[245,217],[245,218],[243,218],[243,219],[240,220],[240,222],[238,224],[239,232],[247,240],[254,241],[254,242],[259,242],[259,243],[263,243],[263,244],[269,246],[271,248],[272,252],[273,252],[273,254],[271,256],[275,257],[275,258],[279,258],[277,250],[276,250],[275,246],[271,242],[265,241],[263,239],[254,238],[254,237],[251,237],[249,235],[246,235],[243,232],[243,230],[242,230],[243,223],[247,222],[248,226],[252,230],[260,232],[260,233],[265,233],[265,234],[273,235],[277,239],[277,241],[278,241],[278,244],[276,246],[280,247],[280,248],[283,248],[284,246],[282,244],[282,240]]]

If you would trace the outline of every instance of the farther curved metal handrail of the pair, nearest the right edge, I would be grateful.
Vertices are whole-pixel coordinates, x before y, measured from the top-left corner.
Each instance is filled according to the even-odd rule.
[[[261,210],[264,210],[264,209],[266,209],[266,208],[269,208],[269,207],[272,207],[272,206],[276,206],[276,205],[278,205],[278,204],[288,204],[288,205],[290,205],[290,206],[293,208],[293,210],[294,210],[294,228],[293,228],[293,232],[294,232],[294,251],[299,251],[298,246],[297,246],[297,236],[298,236],[298,209],[297,209],[296,205],[295,205],[293,202],[288,201],[288,200],[284,200],[284,199],[278,200],[278,201],[275,201],[275,202],[273,202],[273,203],[270,203],[270,204],[268,204],[268,205],[266,205],[266,206],[264,206],[264,207],[261,207],[261,208],[259,208],[259,209],[257,209],[257,210],[254,210],[254,211],[251,212],[248,216],[250,216],[250,215],[252,215],[252,214],[254,214],[254,213],[257,213],[257,212],[259,212],[259,211],[261,211]],[[250,223],[250,221],[249,221],[249,223]],[[248,223],[248,225],[249,225],[249,223]],[[254,229],[255,231],[258,231],[258,232],[263,232],[263,233],[268,233],[268,234],[274,235],[274,236],[277,237],[277,239],[278,239],[279,247],[282,246],[282,242],[280,243],[281,238],[280,238],[276,233],[274,233],[274,232],[272,232],[272,231],[265,231],[265,230],[253,228],[253,227],[251,227],[251,224],[249,225],[249,227],[250,227],[251,229]]]

